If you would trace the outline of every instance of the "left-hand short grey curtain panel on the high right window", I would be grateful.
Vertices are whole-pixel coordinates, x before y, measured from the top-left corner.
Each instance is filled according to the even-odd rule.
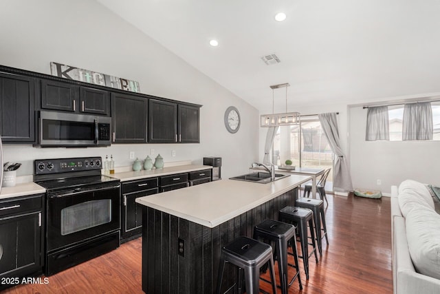
[[[390,140],[388,106],[369,107],[366,114],[365,140]]]

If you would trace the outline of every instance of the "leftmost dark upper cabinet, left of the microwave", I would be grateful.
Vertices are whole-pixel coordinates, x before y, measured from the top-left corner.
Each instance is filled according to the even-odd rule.
[[[3,143],[35,143],[34,78],[0,73],[0,133]]]

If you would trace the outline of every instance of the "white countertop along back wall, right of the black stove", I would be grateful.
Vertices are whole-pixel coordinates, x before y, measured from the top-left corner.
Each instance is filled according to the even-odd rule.
[[[188,173],[190,171],[201,171],[203,169],[212,169],[210,165],[177,165],[175,167],[164,167],[163,169],[151,169],[146,171],[125,171],[116,174],[107,174],[111,178],[118,178],[121,182],[128,180],[140,180],[142,178],[153,178],[157,176],[166,176],[170,174]]]

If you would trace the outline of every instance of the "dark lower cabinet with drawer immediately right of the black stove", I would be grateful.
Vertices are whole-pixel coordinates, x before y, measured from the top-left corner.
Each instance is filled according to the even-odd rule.
[[[126,242],[142,234],[142,205],[136,198],[157,194],[157,178],[122,182],[121,240]]]

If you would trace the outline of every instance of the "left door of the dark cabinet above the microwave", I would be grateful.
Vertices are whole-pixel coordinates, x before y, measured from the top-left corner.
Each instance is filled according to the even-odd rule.
[[[77,112],[79,98],[77,85],[41,80],[41,108]]]

